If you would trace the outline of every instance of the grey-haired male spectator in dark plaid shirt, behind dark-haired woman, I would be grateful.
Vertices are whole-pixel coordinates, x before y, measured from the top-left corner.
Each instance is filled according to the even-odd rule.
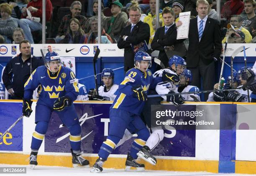
[[[82,30],[85,30],[85,28],[86,28],[85,23],[86,23],[87,19],[86,19],[86,17],[80,15],[81,9],[82,9],[82,4],[79,1],[74,1],[70,5],[71,14],[65,15],[62,18],[61,24],[59,25],[59,29],[58,29],[58,34],[55,38],[56,43],[59,43],[60,40],[64,39],[65,36],[67,36],[67,34],[70,32],[69,31],[69,23],[70,23],[71,18],[77,18],[77,20],[79,20]]]

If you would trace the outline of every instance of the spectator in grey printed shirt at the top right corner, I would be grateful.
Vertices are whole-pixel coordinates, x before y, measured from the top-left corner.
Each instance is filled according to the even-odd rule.
[[[246,13],[246,17],[243,18],[242,26],[246,28],[252,37],[256,36],[256,15],[255,15],[255,0],[244,0],[244,10]]]

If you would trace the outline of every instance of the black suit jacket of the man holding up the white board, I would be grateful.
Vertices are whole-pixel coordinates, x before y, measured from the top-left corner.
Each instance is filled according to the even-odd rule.
[[[177,43],[182,43],[185,39],[177,40],[177,27],[175,23],[169,27],[164,34],[165,26],[158,28],[151,43],[152,50],[159,50],[158,58],[162,61],[165,67],[169,67],[169,58],[167,57],[164,47],[172,46]]]

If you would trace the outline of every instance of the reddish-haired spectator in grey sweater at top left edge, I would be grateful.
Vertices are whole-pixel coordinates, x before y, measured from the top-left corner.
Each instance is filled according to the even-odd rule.
[[[0,4],[0,35],[5,38],[5,43],[11,43],[10,38],[13,35],[13,30],[18,27],[17,22],[10,16],[12,13],[11,7],[7,3]]]

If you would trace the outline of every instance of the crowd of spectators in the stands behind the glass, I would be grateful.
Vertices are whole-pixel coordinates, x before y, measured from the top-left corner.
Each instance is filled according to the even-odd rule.
[[[216,0],[207,1],[210,5],[208,17],[218,20]],[[0,3],[0,35],[4,38],[3,43],[17,43],[13,34],[15,28],[21,28],[21,33],[30,43],[41,43],[42,0],[1,0]],[[191,19],[197,16],[196,3],[197,0],[160,0],[159,27],[164,26],[161,12],[165,7],[172,8],[174,22],[177,23],[181,12],[190,11]],[[128,10],[134,4],[138,4],[141,20],[148,23],[150,36],[154,36],[156,0],[102,0],[102,43],[118,43],[121,30],[131,23]],[[220,11],[223,42],[227,35],[238,30],[244,33],[245,43],[256,41],[255,0],[221,0]],[[91,18],[95,20],[97,13],[98,0],[46,0],[46,38],[52,38],[54,43],[96,43],[97,32],[93,31],[95,28],[91,28],[95,25]],[[232,29],[228,28],[228,23],[233,25]],[[152,42],[152,37],[149,43]],[[233,40],[230,39],[228,43],[230,42]]]

